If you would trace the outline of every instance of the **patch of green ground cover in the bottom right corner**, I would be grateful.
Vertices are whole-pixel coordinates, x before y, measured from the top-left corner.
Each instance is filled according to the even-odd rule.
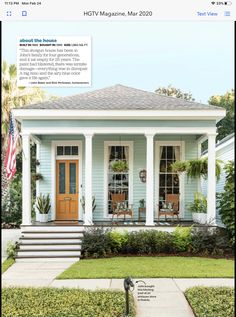
[[[234,289],[230,287],[193,287],[185,292],[196,317],[233,317]]]

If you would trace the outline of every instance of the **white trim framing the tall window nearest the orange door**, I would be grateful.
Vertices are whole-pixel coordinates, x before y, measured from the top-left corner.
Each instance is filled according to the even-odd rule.
[[[133,204],[133,146],[134,141],[104,141],[104,171],[103,171],[103,179],[104,179],[104,205],[103,210],[104,218],[111,218],[112,215],[108,214],[108,179],[107,179],[107,171],[108,171],[108,147],[109,146],[128,146],[129,147],[129,204]]]

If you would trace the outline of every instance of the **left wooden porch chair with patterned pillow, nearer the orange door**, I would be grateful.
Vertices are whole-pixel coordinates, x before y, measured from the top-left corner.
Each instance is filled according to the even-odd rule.
[[[114,220],[114,216],[118,217],[123,215],[124,220],[125,216],[129,215],[133,218],[133,205],[128,204],[125,200],[125,194],[112,194],[111,195],[111,208],[112,208],[112,222]]]

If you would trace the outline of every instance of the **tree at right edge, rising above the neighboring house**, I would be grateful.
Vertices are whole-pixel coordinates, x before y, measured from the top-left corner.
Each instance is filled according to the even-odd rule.
[[[219,141],[234,132],[234,90],[231,89],[224,95],[211,96],[208,103],[226,109],[226,116],[217,123],[216,140]]]

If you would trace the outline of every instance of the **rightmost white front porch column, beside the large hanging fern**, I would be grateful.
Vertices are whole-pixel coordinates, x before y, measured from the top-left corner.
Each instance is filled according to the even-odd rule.
[[[215,134],[208,135],[207,222],[216,221],[216,152]]]

